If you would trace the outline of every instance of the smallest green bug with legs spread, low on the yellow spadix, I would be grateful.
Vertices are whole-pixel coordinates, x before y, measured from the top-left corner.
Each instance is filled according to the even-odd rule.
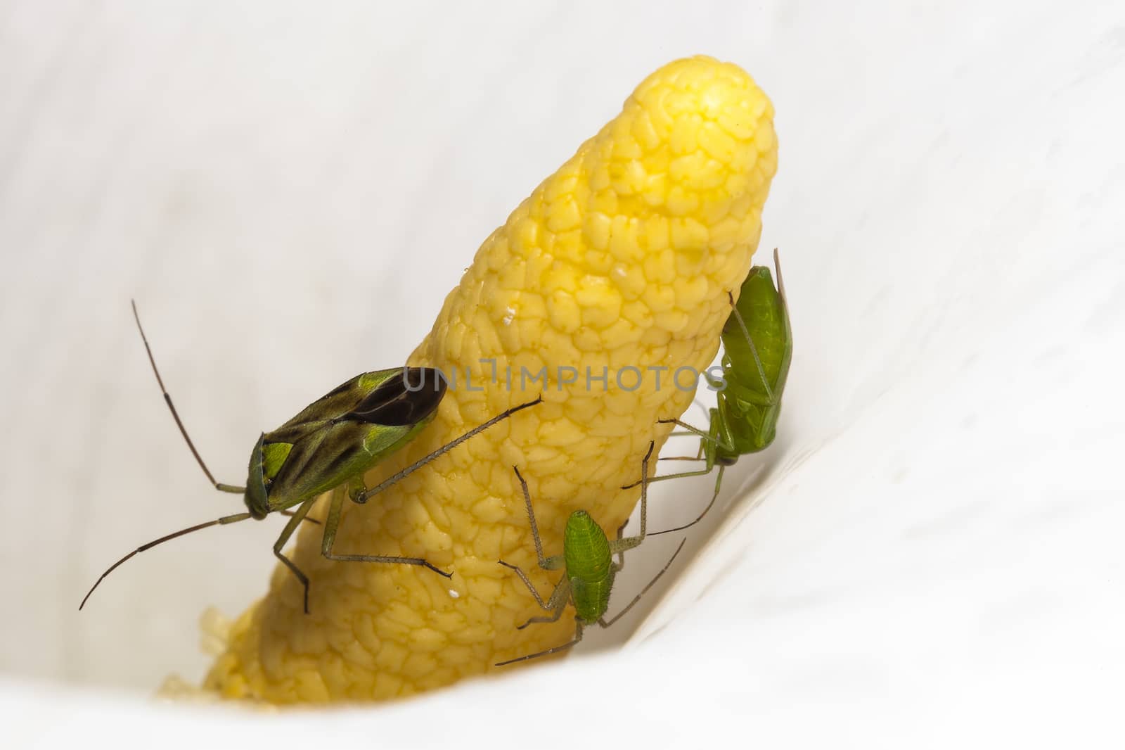
[[[508,659],[507,661],[502,661],[496,664],[496,667],[504,667],[505,664],[512,664],[518,661],[526,661],[529,659],[537,659],[539,657],[546,657],[548,654],[557,653],[565,649],[574,646],[576,643],[582,641],[582,631],[584,627],[591,625],[600,625],[601,627],[610,627],[613,623],[618,622],[623,617],[633,605],[640,601],[640,598],[648,592],[650,588],[664,575],[665,571],[672,566],[672,562],[680,554],[680,551],[684,546],[683,539],[676,551],[673,553],[668,562],[665,563],[660,572],[657,573],[652,580],[641,589],[640,593],[633,597],[633,600],[626,606],[624,609],[619,611],[609,620],[605,619],[605,611],[609,609],[610,605],[610,592],[613,589],[613,579],[616,573],[624,568],[626,559],[624,553],[627,550],[632,550],[640,545],[645,541],[645,533],[647,527],[647,516],[648,516],[648,459],[652,455],[652,443],[648,444],[648,453],[645,454],[645,458],[641,461],[641,476],[645,477],[641,481],[640,490],[640,534],[637,536],[630,536],[628,538],[622,538],[622,533],[624,532],[626,525],[621,525],[618,529],[618,538],[610,541],[605,536],[605,532],[598,526],[590,514],[585,510],[576,510],[570,514],[567,518],[566,529],[562,533],[562,554],[554,555],[551,557],[543,557],[543,545],[542,541],[539,538],[539,527],[536,524],[536,511],[531,507],[531,493],[528,491],[528,482],[520,474],[520,470],[515,466],[512,468],[515,471],[515,477],[520,481],[520,486],[523,490],[523,501],[528,507],[528,520],[531,524],[531,536],[536,542],[536,555],[539,557],[539,566],[543,570],[559,570],[564,571],[562,578],[555,586],[555,590],[551,591],[549,599],[543,601],[543,598],[539,596],[539,590],[536,589],[531,580],[528,578],[526,573],[518,566],[511,563],[506,563],[503,560],[500,561],[501,565],[514,570],[523,581],[523,584],[528,587],[531,591],[531,596],[536,598],[536,602],[548,611],[550,615],[542,617],[532,617],[523,625],[519,626],[519,630],[523,630],[532,623],[554,623],[562,616],[562,610],[566,606],[574,605],[575,609],[575,632],[574,637],[562,645],[555,646],[554,649],[547,649],[546,651],[539,651],[537,653],[528,654],[526,657],[520,657],[518,659]],[[613,562],[613,555],[618,555],[618,562]]]

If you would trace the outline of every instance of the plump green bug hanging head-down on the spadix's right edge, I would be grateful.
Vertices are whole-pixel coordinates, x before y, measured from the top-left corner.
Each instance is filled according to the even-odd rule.
[[[690,434],[700,436],[700,448],[695,456],[660,461],[703,461],[705,464],[700,471],[665,474],[649,481],[701,476],[710,474],[717,465],[719,474],[716,476],[711,501],[695,520],[654,532],[654,536],[682,532],[701,521],[719,497],[723,470],[735,465],[740,456],[765,450],[774,440],[781,398],[793,357],[789,303],[785,300],[785,285],[776,249],[774,267],[777,270],[776,288],[770,268],[754,266],[742,282],[738,304],[735,304],[731,296],[730,316],[722,328],[722,377],[708,376],[709,383],[717,390],[717,404],[710,412],[709,429],[704,431],[678,419],[659,420],[660,423],[678,425]],[[636,485],[633,483],[629,486]]]

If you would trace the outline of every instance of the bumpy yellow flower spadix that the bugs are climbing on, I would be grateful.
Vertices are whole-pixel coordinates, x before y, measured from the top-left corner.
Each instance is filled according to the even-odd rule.
[[[569,613],[515,630],[541,611],[496,561],[522,565],[544,596],[558,573],[536,566],[512,465],[531,488],[548,554],[561,552],[575,509],[610,532],[629,516],[639,490],[618,488],[639,477],[649,440],[659,449],[666,438],[656,420],[693,398],[670,373],[701,370],[714,357],[727,293],[738,293],[758,242],[776,148],[770,100],[739,68],[693,57],[646,79],[480,247],[411,357],[456,370],[457,387],[368,484],[540,391],[546,402],[371,503],[346,503],[338,552],[425,556],[452,580],[406,565],[331,563],[320,555],[321,528],[305,525],[292,554],[312,579],[312,614],[302,614],[300,587],[278,566],[266,598],[231,628],[206,687],[270,703],[390,698],[568,641]],[[521,368],[544,366],[547,386],[525,376],[521,390]],[[647,368],[662,366],[672,369],[657,387]],[[576,382],[561,382],[573,377],[559,369],[567,367]],[[587,368],[595,377],[608,368],[608,384],[587,384]],[[465,387],[466,370],[483,391]],[[313,515],[323,511],[322,502]],[[615,600],[628,601],[621,592]]]

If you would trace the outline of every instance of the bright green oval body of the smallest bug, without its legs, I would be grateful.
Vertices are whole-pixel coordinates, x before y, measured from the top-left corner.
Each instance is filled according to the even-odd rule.
[[[575,614],[594,623],[605,614],[613,586],[610,542],[585,510],[570,514],[562,535],[562,556],[570,579]]]

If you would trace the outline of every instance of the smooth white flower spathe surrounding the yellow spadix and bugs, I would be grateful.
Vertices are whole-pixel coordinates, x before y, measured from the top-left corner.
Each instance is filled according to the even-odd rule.
[[[238,502],[128,300],[237,483],[261,429],[400,361],[508,211],[693,53],[777,109],[762,248],[796,352],[777,443],[634,648],[328,720],[98,695],[198,678],[200,610],[264,590],[278,530],[146,553],[76,611]],[[45,744],[564,744],[575,712],[678,747],[1119,747],[1123,91],[1112,2],[0,2],[0,718]],[[708,484],[662,486],[656,524]]]

